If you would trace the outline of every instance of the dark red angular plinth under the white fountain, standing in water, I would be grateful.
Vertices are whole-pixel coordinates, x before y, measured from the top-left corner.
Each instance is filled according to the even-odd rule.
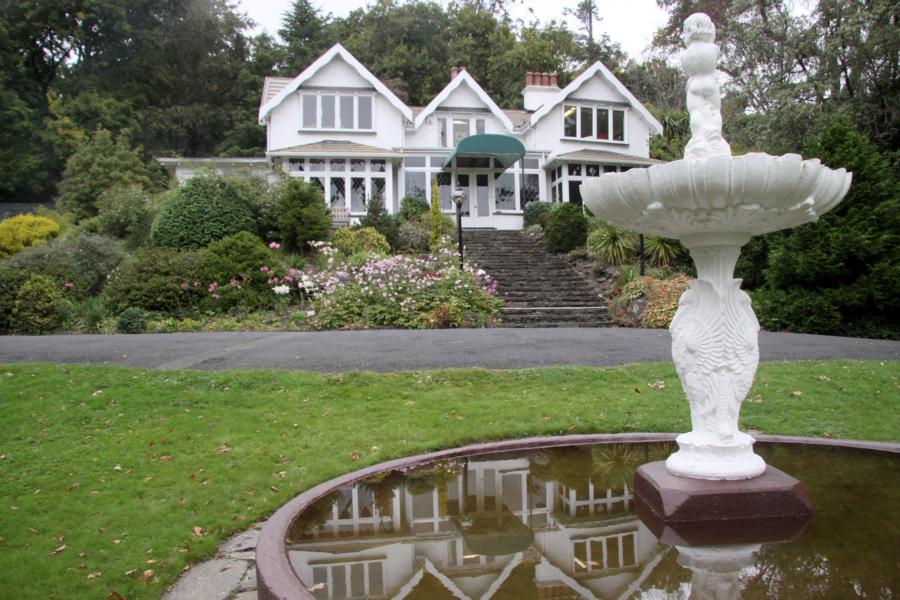
[[[672,475],[665,461],[634,474],[634,494],[662,523],[808,519],[812,503],[803,484],[771,465],[753,479],[717,481]]]

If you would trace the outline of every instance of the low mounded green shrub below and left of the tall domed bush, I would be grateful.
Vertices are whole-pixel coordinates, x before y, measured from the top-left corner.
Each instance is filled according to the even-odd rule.
[[[135,306],[182,315],[194,312],[207,295],[202,255],[172,248],[138,252],[110,274],[103,291],[113,313]]]

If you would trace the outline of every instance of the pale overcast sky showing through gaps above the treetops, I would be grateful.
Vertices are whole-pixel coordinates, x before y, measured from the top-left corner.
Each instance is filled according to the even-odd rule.
[[[447,0],[439,0],[446,5]],[[362,8],[370,0],[313,0],[313,5],[323,13],[346,16],[351,10]],[[238,0],[239,9],[257,23],[257,31],[268,31],[277,35],[281,18],[291,7],[291,0]],[[530,22],[535,17],[541,21],[562,19],[564,7],[574,7],[576,0],[525,0],[516,3],[511,11],[514,19]],[[640,59],[650,45],[654,32],[666,22],[666,13],[656,6],[655,0],[615,0],[600,2],[601,22],[594,25],[595,31],[606,32],[609,37],[622,45],[633,58]],[[571,18],[570,18],[571,19]],[[572,28],[576,28],[571,19]]]

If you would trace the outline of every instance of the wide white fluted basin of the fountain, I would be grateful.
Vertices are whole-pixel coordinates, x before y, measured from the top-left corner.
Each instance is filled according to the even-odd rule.
[[[850,187],[846,169],[797,154],[676,160],[607,173],[582,186],[585,206],[617,227],[681,239],[750,236],[816,221]]]

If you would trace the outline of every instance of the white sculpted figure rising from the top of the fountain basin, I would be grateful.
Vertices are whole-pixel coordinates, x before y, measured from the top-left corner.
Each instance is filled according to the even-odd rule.
[[[722,97],[716,81],[719,47],[716,26],[704,13],[694,13],[684,22],[685,51],[681,64],[688,75],[687,108],[691,116],[691,140],[684,150],[687,159],[731,156],[722,137]]]

